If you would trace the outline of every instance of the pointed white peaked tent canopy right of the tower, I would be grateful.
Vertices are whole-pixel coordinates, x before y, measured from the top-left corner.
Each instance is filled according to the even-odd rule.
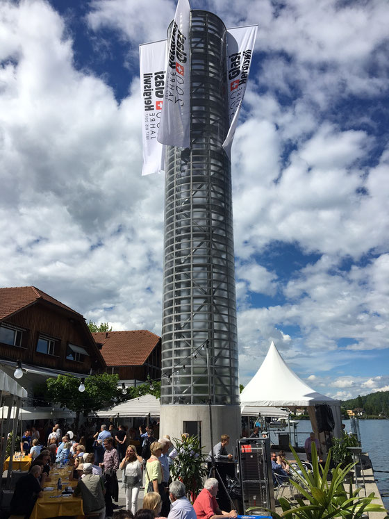
[[[249,384],[240,393],[241,406],[297,406],[315,404],[340,405],[326,395],[317,393],[293,372],[279,354],[274,343]]]

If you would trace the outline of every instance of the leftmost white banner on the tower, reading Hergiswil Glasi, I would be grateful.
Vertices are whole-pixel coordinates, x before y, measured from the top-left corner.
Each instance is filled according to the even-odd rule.
[[[139,47],[142,95],[142,175],[163,171],[163,145],[157,140],[165,92],[166,40]]]

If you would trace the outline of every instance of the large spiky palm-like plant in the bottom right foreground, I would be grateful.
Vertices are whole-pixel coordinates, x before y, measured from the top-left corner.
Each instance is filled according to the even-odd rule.
[[[315,444],[312,444],[312,466],[313,472],[306,470],[301,463],[299,456],[290,446],[295,457],[301,474],[294,470],[294,479],[291,483],[297,489],[299,495],[305,497],[308,504],[301,497],[297,497],[297,505],[290,499],[281,497],[279,504],[283,511],[280,516],[272,511],[273,518],[282,519],[331,519],[342,517],[344,519],[359,519],[365,512],[385,512],[380,504],[372,504],[376,499],[374,492],[367,497],[360,497],[358,494],[361,488],[353,491],[349,486],[349,493],[345,491],[345,477],[347,472],[353,468],[355,463],[349,463],[345,468],[340,464],[331,470],[331,479],[327,480],[331,463],[331,450],[326,459],[324,468],[317,461]]]

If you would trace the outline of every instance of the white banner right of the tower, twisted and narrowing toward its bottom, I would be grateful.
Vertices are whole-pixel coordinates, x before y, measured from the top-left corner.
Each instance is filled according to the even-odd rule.
[[[227,30],[227,93],[229,96],[229,133],[223,142],[230,154],[240,106],[245,97],[247,79],[254,51],[258,25],[235,27]]]

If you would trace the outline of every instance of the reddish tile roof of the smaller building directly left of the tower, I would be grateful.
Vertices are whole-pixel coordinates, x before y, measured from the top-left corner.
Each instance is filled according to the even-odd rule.
[[[160,340],[147,330],[97,331],[92,336],[103,345],[100,352],[108,366],[143,365]]]

